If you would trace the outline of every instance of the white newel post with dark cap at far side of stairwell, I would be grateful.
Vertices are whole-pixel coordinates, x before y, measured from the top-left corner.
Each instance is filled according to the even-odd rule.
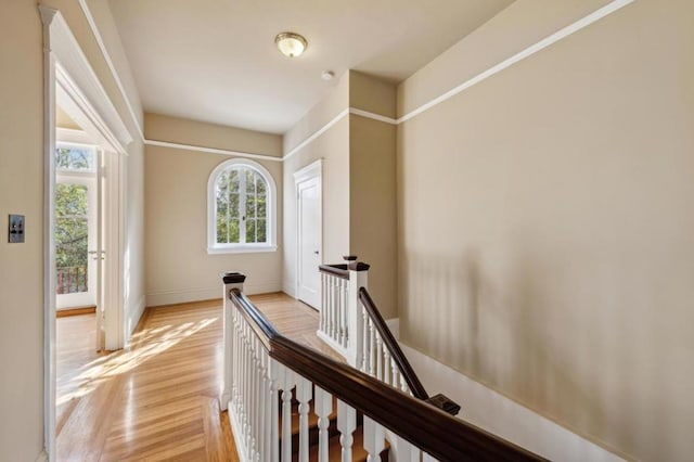
[[[348,335],[347,361],[352,368],[360,369],[363,358],[364,319],[359,303],[359,288],[367,287],[369,280],[369,265],[357,261],[357,256],[344,257],[349,270],[349,290],[347,298]]]

